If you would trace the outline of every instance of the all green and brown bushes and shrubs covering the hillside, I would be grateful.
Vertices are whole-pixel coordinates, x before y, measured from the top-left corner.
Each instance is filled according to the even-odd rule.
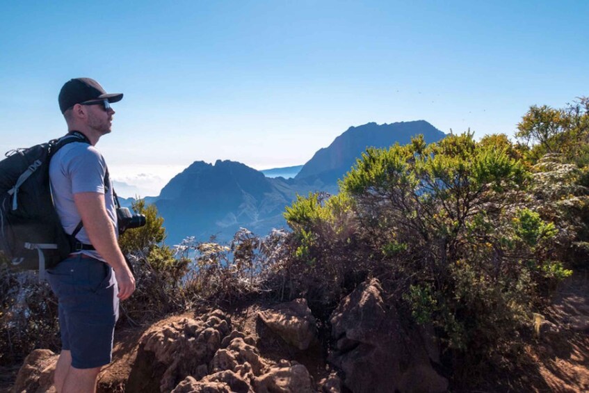
[[[532,106],[516,137],[467,131],[369,148],[337,195],[299,196],[284,213],[291,232],[264,238],[240,230],[174,250],[156,208],[139,201],[147,225],[120,241],[138,276],[120,323],[302,297],[325,326],[342,297],[378,278],[403,323],[435,330],[451,385],[506,371],[559,282],[587,268],[589,99]],[[58,348],[46,285],[3,269],[0,296],[0,363]]]

